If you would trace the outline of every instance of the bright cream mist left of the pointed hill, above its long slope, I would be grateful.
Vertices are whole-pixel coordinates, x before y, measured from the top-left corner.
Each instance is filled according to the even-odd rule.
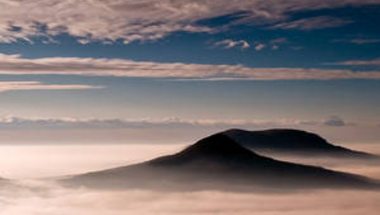
[[[34,179],[80,174],[143,162],[184,148],[181,144],[5,145],[0,177]]]

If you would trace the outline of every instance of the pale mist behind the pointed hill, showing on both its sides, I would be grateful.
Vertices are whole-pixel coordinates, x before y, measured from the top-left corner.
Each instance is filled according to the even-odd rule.
[[[185,144],[3,145],[0,146],[0,177],[33,179],[80,174],[144,162],[185,147]],[[350,147],[380,154],[380,147],[375,144],[352,144]],[[370,161],[259,154],[380,179],[380,165]]]

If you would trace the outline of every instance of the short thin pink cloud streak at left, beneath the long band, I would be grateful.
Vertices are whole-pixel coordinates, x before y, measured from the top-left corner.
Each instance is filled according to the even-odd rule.
[[[0,93],[6,91],[19,90],[86,90],[98,89],[99,86],[90,85],[63,85],[63,84],[42,84],[37,81],[1,81]]]

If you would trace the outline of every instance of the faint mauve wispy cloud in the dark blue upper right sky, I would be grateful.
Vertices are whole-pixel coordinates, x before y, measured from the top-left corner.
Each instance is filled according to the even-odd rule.
[[[271,26],[273,29],[298,29],[314,30],[323,28],[339,27],[351,23],[351,20],[336,18],[331,16],[318,16],[312,18],[299,19],[290,22],[279,23]]]

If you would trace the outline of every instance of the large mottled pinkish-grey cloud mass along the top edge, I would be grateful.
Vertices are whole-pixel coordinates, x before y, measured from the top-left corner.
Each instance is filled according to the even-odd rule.
[[[0,41],[33,42],[35,37],[49,41],[66,33],[85,43],[117,40],[130,43],[157,40],[177,31],[214,32],[218,29],[197,23],[238,12],[245,15],[235,23],[279,23],[299,11],[379,3],[379,0],[2,0]],[[334,22],[328,24],[325,20],[322,24],[331,27],[344,23],[337,19]]]

